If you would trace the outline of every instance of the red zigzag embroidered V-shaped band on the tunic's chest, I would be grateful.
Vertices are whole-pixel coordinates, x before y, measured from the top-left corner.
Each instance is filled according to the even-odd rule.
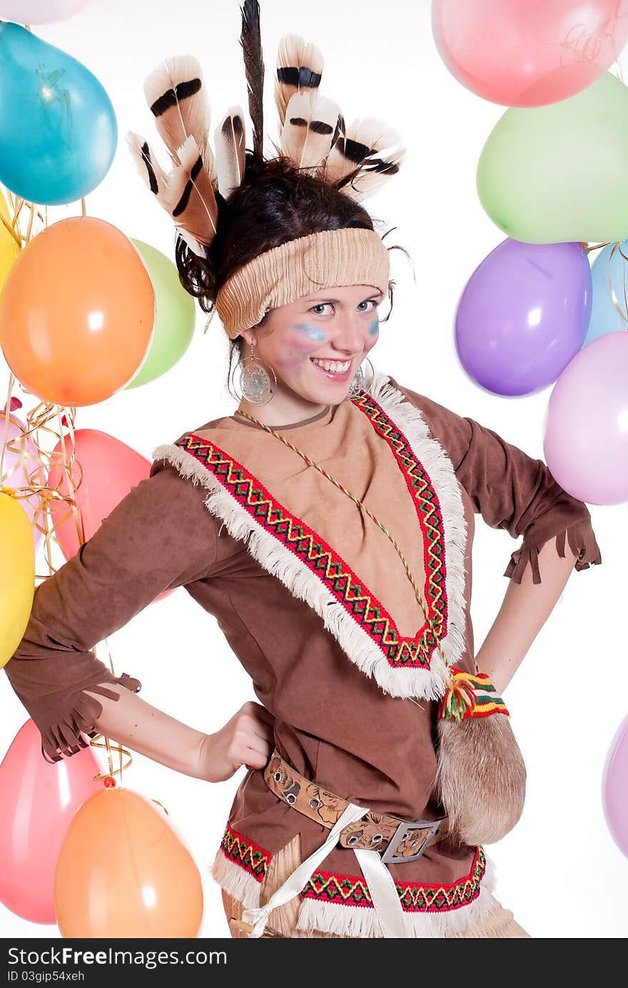
[[[429,620],[411,636],[400,634],[393,617],[344,559],[302,519],[292,515],[241,463],[195,433],[187,433],[176,446],[191,453],[210,470],[259,526],[309,567],[379,646],[393,668],[429,670],[436,638],[447,634],[448,622],[445,537],[438,497],[404,434],[378,402],[364,392],[351,400],[394,453],[423,535],[427,584],[424,593]]]

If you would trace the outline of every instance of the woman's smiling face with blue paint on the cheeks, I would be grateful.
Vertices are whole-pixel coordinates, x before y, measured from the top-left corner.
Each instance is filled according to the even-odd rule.
[[[242,332],[246,356],[253,340],[255,356],[277,375],[275,407],[282,398],[336,405],[346,397],[353,375],[377,343],[383,297],[370,285],[321,288],[272,309],[259,329]]]

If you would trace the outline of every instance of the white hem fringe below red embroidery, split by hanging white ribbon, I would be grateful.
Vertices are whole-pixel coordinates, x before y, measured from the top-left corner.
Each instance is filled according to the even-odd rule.
[[[442,913],[404,911],[406,937],[442,938],[464,933],[491,909],[494,883],[494,864],[487,859],[480,894],[473,902]],[[315,899],[303,899],[299,909],[297,929],[304,932],[318,930],[321,933],[335,933],[361,939],[384,937],[382,924],[372,907],[345,906],[334,902],[318,902]]]

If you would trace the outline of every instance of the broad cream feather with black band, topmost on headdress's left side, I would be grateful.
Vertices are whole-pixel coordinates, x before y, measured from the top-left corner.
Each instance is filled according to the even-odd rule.
[[[212,149],[208,144],[211,108],[203,72],[194,55],[165,58],[144,80],[144,94],[172,160],[179,163],[177,148],[192,135],[206,168],[214,177]]]

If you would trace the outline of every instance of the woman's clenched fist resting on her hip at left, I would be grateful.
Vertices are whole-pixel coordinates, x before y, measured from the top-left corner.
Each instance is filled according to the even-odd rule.
[[[274,747],[275,718],[261,703],[249,700],[216,734],[207,734],[203,744],[203,778],[224,782],[241,765],[263,769]]]

